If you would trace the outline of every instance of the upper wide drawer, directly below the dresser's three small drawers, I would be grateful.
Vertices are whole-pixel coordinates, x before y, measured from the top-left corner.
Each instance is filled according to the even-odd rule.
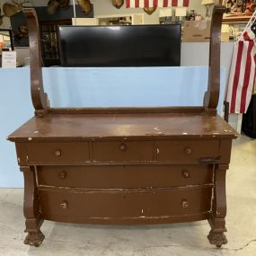
[[[38,166],[40,186],[87,189],[169,188],[209,184],[212,164]]]

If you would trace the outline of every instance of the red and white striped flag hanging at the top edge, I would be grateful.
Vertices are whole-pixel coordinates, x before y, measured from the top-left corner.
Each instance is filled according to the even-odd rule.
[[[188,7],[190,0],[126,0],[127,8]]]

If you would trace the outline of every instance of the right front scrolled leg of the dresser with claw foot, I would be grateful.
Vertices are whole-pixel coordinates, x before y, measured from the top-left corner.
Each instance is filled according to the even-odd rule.
[[[225,199],[225,172],[228,169],[228,164],[216,164],[214,175],[214,197],[212,201],[212,215],[208,219],[211,226],[211,231],[207,238],[209,243],[216,244],[216,247],[221,247],[227,243],[224,232],[225,215],[226,215],[226,199]]]

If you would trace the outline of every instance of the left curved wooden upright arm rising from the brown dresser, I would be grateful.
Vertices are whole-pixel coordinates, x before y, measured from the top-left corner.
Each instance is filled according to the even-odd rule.
[[[41,55],[40,55],[40,35],[37,13],[33,8],[24,8],[30,38],[31,56],[31,100],[35,108],[36,116],[44,116],[48,110],[48,97],[44,93]]]

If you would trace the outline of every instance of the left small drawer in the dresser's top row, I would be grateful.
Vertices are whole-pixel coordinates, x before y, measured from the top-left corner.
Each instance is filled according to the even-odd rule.
[[[89,161],[88,143],[29,143],[28,163],[84,163]]]

